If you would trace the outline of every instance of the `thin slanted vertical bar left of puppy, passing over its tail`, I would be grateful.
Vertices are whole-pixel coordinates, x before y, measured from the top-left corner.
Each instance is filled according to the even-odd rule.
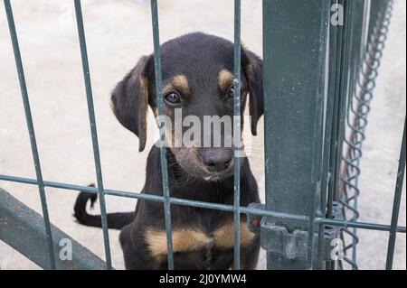
[[[85,39],[85,31],[83,28],[83,18],[82,18],[82,11],[81,11],[81,7],[80,7],[80,0],[74,0],[74,3],[75,3],[76,23],[78,26],[78,35],[79,35],[79,41],[80,41],[80,57],[81,57],[81,61],[82,61],[83,78],[85,81],[86,99],[88,102],[88,114],[89,114],[89,120],[90,120],[90,134],[91,134],[91,138],[92,138],[93,158],[95,161],[96,178],[97,178],[97,182],[98,182],[99,206],[100,206],[100,214],[101,214],[101,224],[102,224],[102,229],[103,229],[103,241],[104,241],[104,246],[105,246],[106,266],[107,266],[107,269],[111,269],[108,218],[106,216],[106,203],[105,203],[105,195],[104,195],[104,191],[103,191],[103,179],[102,179],[102,172],[101,172],[101,165],[100,165],[98,131],[96,128],[95,109],[93,107],[92,88],[91,88],[91,84],[90,84],[90,69],[89,69],[89,62],[88,62],[88,52],[86,49],[86,39]]]

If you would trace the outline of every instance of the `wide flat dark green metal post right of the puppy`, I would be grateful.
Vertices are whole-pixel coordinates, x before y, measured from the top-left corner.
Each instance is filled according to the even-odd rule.
[[[320,173],[320,160],[313,157],[321,155],[313,144],[323,142],[320,129],[315,128],[320,111],[323,2],[263,0],[266,207],[304,216],[310,216],[311,209],[315,214],[315,200],[320,197],[316,189],[320,184],[313,182]],[[267,222],[281,223],[281,219],[268,217]],[[288,230],[309,228],[297,221],[284,220],[283,224]],[[267,265],[268,269],[309,268],[307,259],[287,259],[270,251]]]

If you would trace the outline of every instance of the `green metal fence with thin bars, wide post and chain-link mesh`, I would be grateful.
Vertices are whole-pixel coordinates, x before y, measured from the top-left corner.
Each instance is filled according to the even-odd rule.
[[[369,104],[373,98],[374,79],[378,75],[377,70],[389,28],[392,0],[263,0],[264,123],[267,131],[264,139],[266,203],[253,204],[249,207],[239,205],[241,193],[239,164],[234,165],[233,205],[171,197],[166,169],[165,133],[161,133],[160,139],[163,196],[104,188],[85,29],[80,0],[73,2],[88,100],[97,176],[96,187],[43,180],[12,5],[9,0],[4,0],[36,179],[0,174],[0,181],[33,184],[39,189],[43,208],[43,244],[46,244],[48,258],[46,263],[44,261],[37,263],[43,268],[66,268],[56,260],[53,238],[61,235],[52,228],[48,216],[45,188],[53,187],[98,193],[107,269],[111,269],[112,265],[105,195],[164,203],[169,269],[176,268],[172,249],[172,204],[233,213],[234,269],[240,269],[241,213],[248,215],[249,223],[253,218],[260,219],[260,229],[253,227],[251,229],[260,233],[261,246],[267,250],[269,269],[340,269],[345,268],[346,264],[357,269],[356,232],[359,228],[389,232],[387,261],[383,268],[392,268],[395,237],[397,233],[406,232],[405,227],[397,226],[405,169],[405,125],[392,222],[377,224],[357,220],[358,176],[364,129],[367,125]],[[332,14],[333,11],[340,13],[342,10],[339,8],[343,9],[344,23],[334,24]],[[159,115],[162,116],[164,107],[157,10],[157,1],[151,0],[157,103]],[[241,1],[235,0],[234,85],[237,87],[234,89],[234,115],[237,117],[235,119],[239,119],[241,111],[238,95],[241,74],[240,53]],[[159,123],[163,124],[159,127],[163,131],[165,122]],[[240,135],[241,121],[234,121],[233,125],[235,135]],[[238,139],[238,136],[234,138]],[[239,149],[235,151],[234,161],[239,163]],[[10,205],[13,201],[10,197],[2,196],[0,211],[6,211],[9,216],[21,213],[21,210],[20,212],[18,209],[14,210]],[[19,225],[29,224],[22,218],[15,219],[17,219],[15,223],[20,223]],[[16,246],[10,237],[14,234],[6,233],[15,227],[7,226],[2,219],[0,224],[2,225],[0,239],[33,259],[29,245]],[[347,241],[343,259],[330,257],[332,241],[337,238]],[[86,259],[80,261],[83,263]],[[93,267],[97,268],[99,265]]]

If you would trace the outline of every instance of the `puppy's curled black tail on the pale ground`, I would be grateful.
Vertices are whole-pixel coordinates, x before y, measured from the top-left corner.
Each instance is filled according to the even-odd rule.
[[[90,184],[90,187],[94,187],[94,184]],[[78,198],[76,199],[75,206],[73,207],[73,216],[82,225],[99,227],[101,228],[101,216],[100,215],[90,215],[86,211],[86,204],[90,200],[90,208],[93,208],[93,204],[98,199],[98,194],[80,191]],[[121,229],[131,223],[134,219],[135,212],[128,213],[109,213],[108,227],[111,229]]]

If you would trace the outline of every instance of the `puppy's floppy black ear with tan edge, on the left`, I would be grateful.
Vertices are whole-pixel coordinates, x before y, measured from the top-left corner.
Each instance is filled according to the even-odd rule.
[[[151,56],[150,56],[151,57]],[[121,125],[137,135],[138,151],[143,151],[147,141],[148,73],[150,57],[144,56],[113,90],[111,108]]]

